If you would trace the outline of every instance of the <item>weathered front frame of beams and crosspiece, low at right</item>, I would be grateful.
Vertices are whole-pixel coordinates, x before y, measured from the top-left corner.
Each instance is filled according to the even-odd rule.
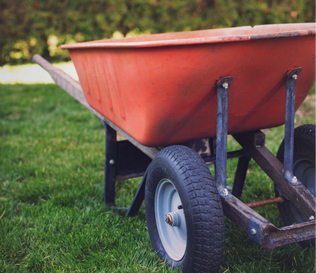
[[[234,135],[234,138],[281,189],[284,200],[291,201],[303,215],[315,217],[315,197],[303,185],[293,186],[284,179],[283,164],[264,145],[265,137],[262,132],[238,134]],[[294,241],[315,238],[315,221],[277,228],[236,197],[222,199],[222,204],[225,215],[245,230],[250,239],[264,248],[275,248]]]

